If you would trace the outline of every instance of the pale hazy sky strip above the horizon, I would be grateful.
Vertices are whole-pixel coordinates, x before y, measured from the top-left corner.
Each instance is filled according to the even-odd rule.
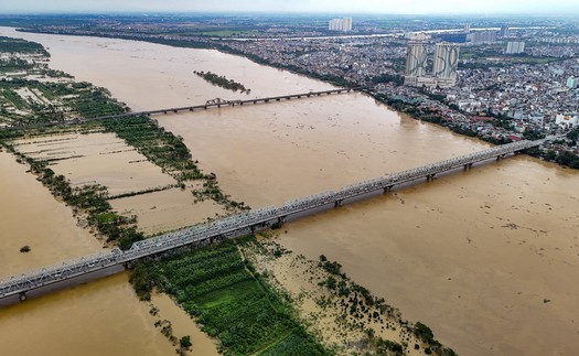
[[[579,0],[0,0],[0,14],[85,11],[579,14]]]

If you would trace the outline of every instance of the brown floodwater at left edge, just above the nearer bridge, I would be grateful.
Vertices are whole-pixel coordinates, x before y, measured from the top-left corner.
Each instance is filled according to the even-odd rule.
[[[76,226],[71,209],[26,173],[28,164],[0,152],[0,279],[103,249]],[[26,245],[31,251],[20,252]]]

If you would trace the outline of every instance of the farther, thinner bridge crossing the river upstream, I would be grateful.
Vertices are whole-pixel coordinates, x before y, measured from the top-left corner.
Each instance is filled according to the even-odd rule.
[[[203,105],[173,107],[173,108],[154,109],[154,110],[146,110],[146,111],[130,111],[130,112],[98,116],[98,117],[92,117],[92,118],[75,118],[72,120],[60,121],[60,122],[40,122],[40,123],[33,123],[33,125],[12,126],[12,127],[8,126],[1,129],[7,130],[7,129],[21,129],[21,128],[29,128],[29,127],[78,125],[83,122],[124,119],[124,118],[136,117],[136,116],[176,114],[181,111],[195,111],[195,110],[199,111],[199,110],[207,110],[207,109],[214,109],[214,108],[221,108],[221,107],[233,107],[233,106],[244,106],[244,105],[247,106],[247,105],[287,101],[287,100],[304,99],[304,98],[321,97],[321,96],[329,96],[329,95],[336,95],[336,94],[346,94],[346,93],[352,93],[355,90],[357,89],[356,88],[339,88],[339,89],[331,89],[331,90],[308,91],[308,93],[289,94],[289,95],[272,96],[272,97],[266,97],[266,98],[254,98],[254,99],[246,99],[246,100],[226,100],[222,98],[215,98],[215,99],[205,101],[205,104]]]

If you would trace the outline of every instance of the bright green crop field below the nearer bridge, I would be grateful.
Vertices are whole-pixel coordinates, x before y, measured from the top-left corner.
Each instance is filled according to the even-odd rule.
[[[153,285],[173,295],[210,336],[221,341],[225,355],[326,355],[313,336],[292,319],[292,311],[253,272],[236,244],[226,241],[139,262],[131,283],[141,299]]]

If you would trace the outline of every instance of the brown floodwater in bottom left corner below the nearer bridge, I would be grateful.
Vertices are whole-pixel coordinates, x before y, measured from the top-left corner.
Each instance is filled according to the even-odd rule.
[[[29,300],[0,311],[1,354],[174,355],[175,347],[154,327],[164,317],[176,320],[178,338],[191,336],[193,354],[215,354],[207,337],[186,324],[183,311],[162,299],[159,304],[159,314],[151,315],[149,304],[136,298],[128,273]]]

